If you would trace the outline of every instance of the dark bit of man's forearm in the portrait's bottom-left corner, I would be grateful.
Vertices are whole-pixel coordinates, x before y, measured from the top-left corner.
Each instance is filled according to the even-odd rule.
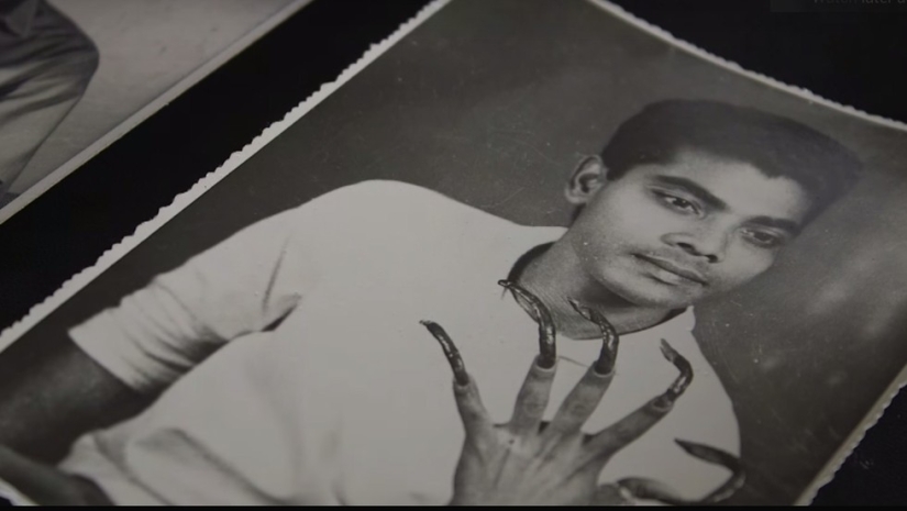
[[[37,506],[113,506],[92,481],[0,445],[0,479]]]

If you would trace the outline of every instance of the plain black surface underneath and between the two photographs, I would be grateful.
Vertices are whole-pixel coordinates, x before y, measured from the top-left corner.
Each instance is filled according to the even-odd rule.
[[[424,3],[316,0],[0,225],[0,327],[93,264]],[[778,0],[616,3],[746,69],[907,121],[907,8],[785,13]],[[905,429],[902,392],[814,504],[907,503]]]

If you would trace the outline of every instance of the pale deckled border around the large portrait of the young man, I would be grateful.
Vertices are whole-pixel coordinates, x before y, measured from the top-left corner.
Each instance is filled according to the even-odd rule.
[[[307,3],[309,0],[302,0],[299,4],[295,4],[295,8],[301,8],[302,4]],[[367,66],[369,66],[374,60],[380,57],[384,53],[395,46],[400,40],[406,37],[410,32],[416,30],[419,25],[424,23],[427,20],[432,18],[439,11],[441,11],[446,4],[451,3],[452,0],[434,0],[428,5],[425,5],[420,12],[418,12],[414,16],[412,16],[409,21],[405,22],[400,25],[390,36],[385,38],[384,41],[374,44],[357,62],[351,64],[334,81],[324,84],[318,91],[312,93],[309,98],[303,100],[292,110],[290,110],[283,120],[273,123],[270,126],[265,129],[257,137],[255,137],[250,144],[247,144],[242,151],[234,153],[230,156],[219,168],[209,173],[202,179],[196,182],[196,185],[180,193],[177,195],[172,203],[165,208],[162,208],[158,214],[147,222],[140,224],[132,235],[124,237],[119,243],[110,247],[104,254],[102,254],[99,259],[96,262],[93,266],[85,268],[80,273],[73,276],[68,281],[66,281],[56,292],[47,297],[43,302],[36,304],[31,309],[31,311],[20,319],[16,323],[9,326],[3,332],[0,332],[0,351],[5,349],[10,344],[16,341],[20,336],[22,336],[25,332],[40,323],[45,316],[51,314],[56,308],[60,304],[66,302],[68,299],[74,297],[78,293],[82,288],[85,288],[89,282],[91,282],[95,278],[99,277],[103,274],[107,269],[109,269],[114,263],[121,259],[124,255],[130,253],[133,248],[139,246],[143,241],[145,241],[148,236],[151,236],[155,231],[162,227],[164,224],[169,222],[174,219],[177,214],[179,214],[184,209],[186,209],[189,204],[191,204],[195,200],[203,196],[209,189],[214,187],[221,179],[230,175],[233,170],[240,167],[244,162],[250,159],[253,155],[255,155],[259,149],[267,146],[272,141],[274,141],[278,135],[280,135],[285,130],[305,116],[309,111],[316,108],[319,103],[334,93],[338,89],[343,87],[344,84],[353,79],[358,73],[364,70]],[[660,38],[679,51],[686,52],[694,57],[703,59],[711,65],[720,67],[730,73],[740,75],[744,78],[754,80],[762,85],[765,85],[770,88],[774,88],[776,90],[781,90],[783,92],[803,98],[810,102],[817,103],[825,108],[832,109],[837,112],[842,114],[852,115],[863,121],[875,123],[878,125],[883,125],[886,127],[892,127],[895,130],[907,131],[907,123],[903,123],[899,121],[895,121],[892,119],[886,119],[880,115],[874,115],[852,107],[848,107],[825,98],[821,98],[809,90],[804,88],[799,88],[796,86],[792,86],[788,84],[781,82],[774,78],[746,70],[741,66],[737,65],[733,62],[726,60],[721,57],[712,55],[706,52],[703,48],[699,48],[693,44],[689,44],[685,41],[681,41],[673,36],[667,31],[654,26],[648,23],[644,20],[637,18],[635,15],[627,12],[622,8],[609,3],[607,0],[585,0],[598,8],[602,9],[604,11],[608,12],[609,14],[616,16],[617,19],[628,23],[631,26],[634,26],[653,37]],[[288,13],[287,13],[288,14]],[[265,27],[259,30],[259,33],[264,33],[266,31]],[[237,43],[239,44],[239,43]],[[232,48],[231,51],[235,52],[236,48]],[[221,57],[221,59],[229,58],[226,56]],[[210,66],[214,66],[213,63]],[[203,71],[200,71],[203,74]],[[195,79],[198,80],[200,77],[195,76]],[[182,85],[182,87],[186,87]],[[170,91],[168,95],[175,95],[176,91]],[[145,112],[147,113],[147,112]],[[130,122],[133,122],[131,120]],[[121,126],[118,130],[124,130],[128,126]],[[62,179],[63,176],[58,176]],[[48,185],[49,186],[49,185]],[[23,204],[24,205],[24,204]],[[2,216],[0,216],[0,221],[2,221]],[[850,432],[848,437],[839,445],[838,449],[836,451],[834,455],[831,456],[825,464],[825,466],[819,470],[817,476],[812,479],[812,481],[800,493],[799,498],[794,502],[796,506],[807,506],[809,504],[818,493],[819,489],[830,482],[833,478],[838,469],[844,463],[847,457],[853,452],[853,449],[860,444],[860,442],[865,436],[866,431],[872,427],[885,412],[885,409],[891,404],[892,400],[896,397],[898,391],[907,385],[907,366],[900,370],[898,376],[888,385],[885,389],[884,393],[882,393],[876,401],[873,403],[870,411],[863,416],[859,426],[856,426],[853,431]],[[29,506],[31,504],[27,499],[24,499],[20,496],[16,491],[11,488],[8,488],[5,485],[0,485],[0,495],[9,498],[15,504],[19,506]]]

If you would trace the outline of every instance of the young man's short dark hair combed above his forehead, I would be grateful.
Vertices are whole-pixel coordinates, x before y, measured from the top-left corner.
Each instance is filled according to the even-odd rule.
[[[861,162],[831,137],[790,119],[701,100],[649,104],[624,121],[601,152],[608,179],[634,166],[667,164],[678,149],[749,163],[768,177],[798,182],[812,200],[807,222],[858,181]]]

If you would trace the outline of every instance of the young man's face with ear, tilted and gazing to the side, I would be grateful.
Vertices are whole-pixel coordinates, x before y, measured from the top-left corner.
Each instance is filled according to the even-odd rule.
[[[794,180],[683,151],[606,180],[578,169],[567,198],[585,205],[565,235],[586,278],[631,303],[683,308],[768,269],[808,213]]]

